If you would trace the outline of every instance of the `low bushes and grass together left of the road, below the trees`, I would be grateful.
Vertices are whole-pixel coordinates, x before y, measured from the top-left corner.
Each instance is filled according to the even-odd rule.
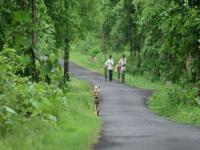
[[[19,60],[12,49],[0,55],[0,149],[90,149],[101,125],[91,86],[71,78],[60,87],[62,68],[50,75],[54,83],[32,83],[15,75]]]

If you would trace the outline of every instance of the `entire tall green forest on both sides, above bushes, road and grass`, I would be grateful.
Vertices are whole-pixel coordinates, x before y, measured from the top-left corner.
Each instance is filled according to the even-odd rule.
[[[197,82],[199,7],[198,0],[2,1],[0,46],[20,51],[26,67],[18,73],[33,81],[42,74],[50,80],[58,55],[67,60],[70,46],[83,40],[79,49],[91,53],[129,51],[133,74]],[[40,56],[49,58],[46,65]]]

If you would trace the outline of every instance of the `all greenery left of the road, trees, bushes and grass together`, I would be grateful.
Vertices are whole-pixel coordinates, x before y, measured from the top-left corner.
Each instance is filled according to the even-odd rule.
[[[1,150],[88,150],[96,142],[92,88],[69,77],[68,59],[72,42],[98,30],[97,6],[0,1]]]

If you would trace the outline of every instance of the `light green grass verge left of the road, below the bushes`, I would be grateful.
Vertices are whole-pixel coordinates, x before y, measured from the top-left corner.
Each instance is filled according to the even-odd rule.
[[[98,139],[101,126],[101,120],[94,115],[90,85],[73,78],[66,99],[57,123],[40,117],[17,123],[9,134],[0,136],[0,149],[90,149]]]

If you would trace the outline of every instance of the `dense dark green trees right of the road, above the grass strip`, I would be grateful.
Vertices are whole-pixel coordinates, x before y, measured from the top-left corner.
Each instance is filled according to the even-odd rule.
[[[152,80],[196,81],[199,3],[108,0],[104,6],[103,42],[108,51],[128,49],[130,73],[147,74]]]

